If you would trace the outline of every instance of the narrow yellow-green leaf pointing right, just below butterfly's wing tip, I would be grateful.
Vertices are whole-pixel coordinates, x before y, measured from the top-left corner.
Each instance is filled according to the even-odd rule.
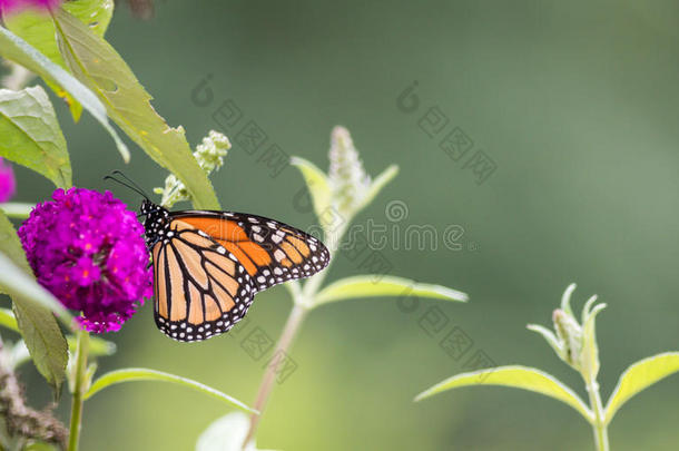
[[[445,301],[469,301],[465,293],[441,285],[421,284],[403,277],[361,275],[342,278],[323,288],[315,297],[314,307],[329,302],[378,297],[421,296]]]

